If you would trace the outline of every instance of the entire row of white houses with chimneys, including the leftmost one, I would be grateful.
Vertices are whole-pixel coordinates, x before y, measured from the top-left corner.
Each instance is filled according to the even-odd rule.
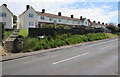
[[[8,9],[6,4],[0,6],[0,22],[4,23],[5,28],[13,28],[13,13]],[[35,9],[26,5],[26,10],[18,17],[17,29],[28,29],[28,28],[41,28],[44,24],[62,24],[70,27],[96,27],[106,28],[108,24],[90,21],[90,19],[74,18],[74,15],[70,17],[63,16],[61,12],[56,14],[46,13],[45,9],[42,12],[35,11]]]

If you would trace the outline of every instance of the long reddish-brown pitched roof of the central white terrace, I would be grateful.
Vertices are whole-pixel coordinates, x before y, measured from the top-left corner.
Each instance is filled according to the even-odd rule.
[[[38,12],[36,11],[36,13],[38,15],[42,15],[42,16],[48,16],[48,17],[54,17],[54,18],[61,18],[61,19],[67,19],[67,20],[73,20],[73,21],[84,21],[85,18],[83,18],[82,20],[78,19],[78,18],[71,18],[71,17],[67,17],[67,16],[58,16],[55,14],[50,14],[50,13],[42,13],[42,12]]]

